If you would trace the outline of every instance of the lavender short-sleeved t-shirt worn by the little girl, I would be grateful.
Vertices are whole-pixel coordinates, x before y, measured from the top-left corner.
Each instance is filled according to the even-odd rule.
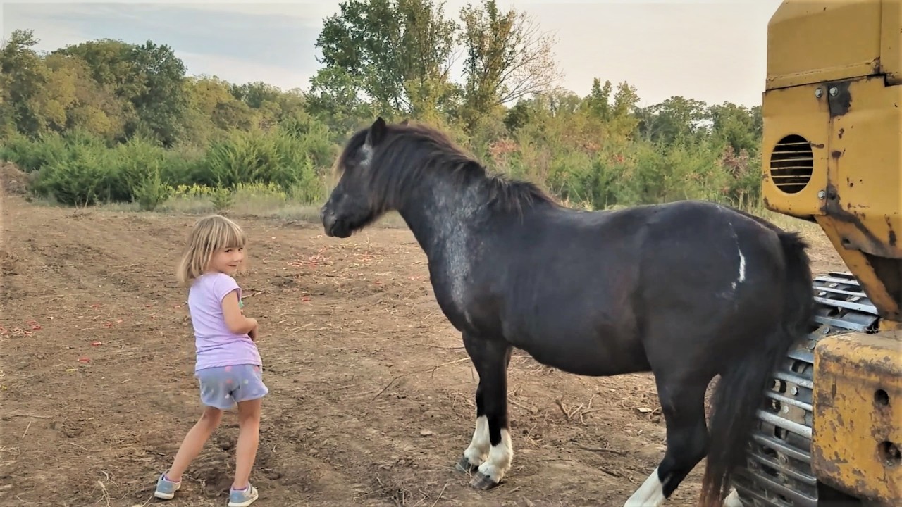
[[[237,335],[226,326],[222,300],[232,290],[241,288],[234,278],[222,272],[204,273],[188,293],[188,308],[198,352],[194,371],[215,366],[256,364],[262,366],[256,344],[247,333]]]

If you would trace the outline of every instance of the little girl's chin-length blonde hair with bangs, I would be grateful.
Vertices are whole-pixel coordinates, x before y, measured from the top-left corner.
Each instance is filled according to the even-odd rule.
[[[247,236],[232,220],[221,215],[200,218],[191,229],[176,278],[182,285],[189,285],[207,271],[214,253],[224,248],[244,248],[245,244]],[[244,263],[239,270],[244,271]]]

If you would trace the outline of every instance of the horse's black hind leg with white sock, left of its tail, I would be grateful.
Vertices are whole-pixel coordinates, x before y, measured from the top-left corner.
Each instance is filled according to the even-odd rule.
[[[676,491],[686,475],[707,454],[708,428],[704,421],[704,392],[708,380],[694,377],[656,377],[661,411],[667,423],[667,451],[649,478],[624,507],[658,507]]]

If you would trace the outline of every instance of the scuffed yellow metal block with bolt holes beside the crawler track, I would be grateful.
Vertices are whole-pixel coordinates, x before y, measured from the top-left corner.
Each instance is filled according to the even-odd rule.
[[[824,337],[815,347],[813,409],[818,480],[902,504],[902,331]]]

